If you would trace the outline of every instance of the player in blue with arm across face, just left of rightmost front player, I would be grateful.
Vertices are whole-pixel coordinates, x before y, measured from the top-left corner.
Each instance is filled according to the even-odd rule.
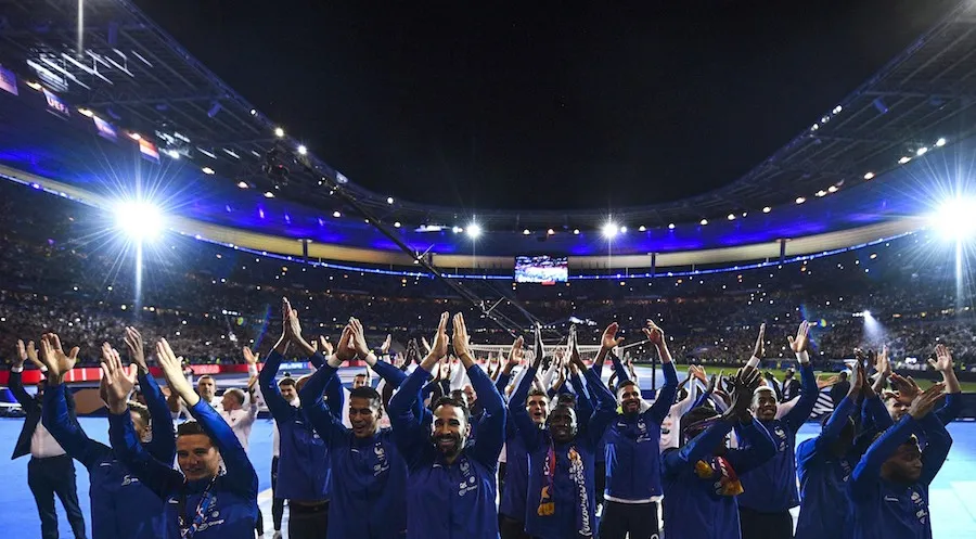
[[[824,423],[823,431],[796,448],[796,471],[800,483],[796,539],[819,539],[838,532],[849,535],[851,531],[847,484],[861,459],[861,451],[855,446],[857,427],[852,419],[857,414],[859,399],[863,399],[862,406],[872,418],[872,423],[884,428],[891,425],[885,406],[871,388],[863,364],[858,363],[847,396]]]

